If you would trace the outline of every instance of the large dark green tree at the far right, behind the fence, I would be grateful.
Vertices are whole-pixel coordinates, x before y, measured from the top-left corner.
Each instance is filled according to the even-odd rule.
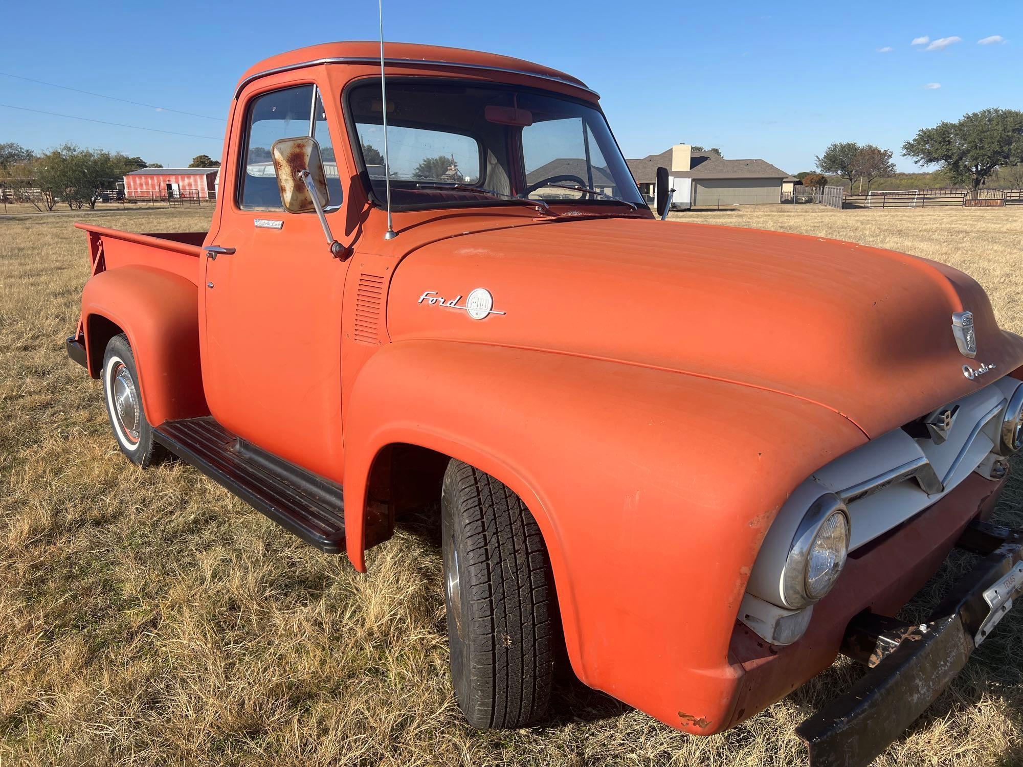
[[[940,165],[953,183],[969,184],[976,197],[996,168],[1023,162],[1023,111],[981,109],[958,123],[922,128],[902,144],[902,154],[921,165]]]

